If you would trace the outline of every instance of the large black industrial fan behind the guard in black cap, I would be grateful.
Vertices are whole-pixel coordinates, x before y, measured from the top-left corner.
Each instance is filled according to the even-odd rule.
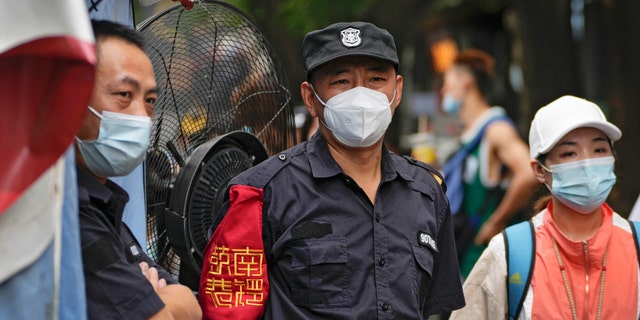
[[[197,290],[231,178],[295,143],[284,70],[236,8],[176,5],[138,27],[160,90],[145,166],[147,250]]]

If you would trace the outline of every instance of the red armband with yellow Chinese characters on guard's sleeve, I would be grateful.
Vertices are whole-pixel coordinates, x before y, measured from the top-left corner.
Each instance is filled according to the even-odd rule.
[[[229,209],[205,248],[198,302],[203,319],[258,319],[269,294],[262,243],[263,190],[229,190]]]

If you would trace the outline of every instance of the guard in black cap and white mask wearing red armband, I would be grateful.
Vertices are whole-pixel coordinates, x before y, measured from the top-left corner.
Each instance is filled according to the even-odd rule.
[[[389,32],[343,22],[302,43],[319,128],[230,182],[205,250],[205,319],[426,319],[464,305],[429,165],[384,146],[403,79]]]

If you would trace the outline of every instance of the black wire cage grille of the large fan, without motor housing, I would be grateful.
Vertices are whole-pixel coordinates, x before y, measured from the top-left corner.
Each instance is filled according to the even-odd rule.
[[[225,133],[254,134],[270,155],[295,143],[291,95],[274,51],[236,8],[201,1],[143,22],[159,96],[147,155],[147,252],[177,277],[163,210],[185,161]]]

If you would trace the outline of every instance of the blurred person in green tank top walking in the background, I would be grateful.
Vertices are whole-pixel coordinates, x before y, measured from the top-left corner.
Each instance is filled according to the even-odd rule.
[[[463,278],[491,237],[530,204],[537,187],[529,168],[527,144],[505,110],[488,103],[493,76],[493,58],[483,51],[467,49],[445,71],[441,90],[443,110],[456,115],[463,126],[462,145],[482,135],[464,161],[464,196],[459,213],[469,227],[456,234],[456,241],[461,242],[458,255]]]

